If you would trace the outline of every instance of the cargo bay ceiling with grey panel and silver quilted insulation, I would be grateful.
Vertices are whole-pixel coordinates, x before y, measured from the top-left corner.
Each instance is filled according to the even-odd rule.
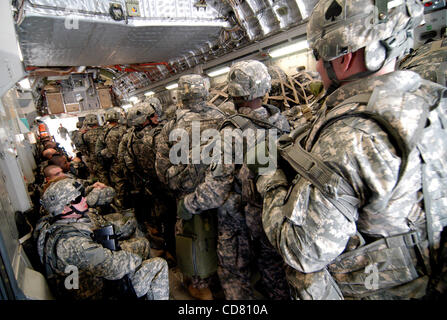
[[[30,76],[100,68],[124,99],[302,25],[316,2],[14,0],[13,6]]]

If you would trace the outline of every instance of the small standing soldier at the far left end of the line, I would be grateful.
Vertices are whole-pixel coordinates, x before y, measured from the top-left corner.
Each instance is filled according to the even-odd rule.
[[[86,146],[90,174],[102,183],[110,185],[107,172],[96,154],[96,142],[103,135],[103,128],[98,125],[98,117],[95,114],[86,115],[84,125],[87,131],[82,134],[82,141]]]

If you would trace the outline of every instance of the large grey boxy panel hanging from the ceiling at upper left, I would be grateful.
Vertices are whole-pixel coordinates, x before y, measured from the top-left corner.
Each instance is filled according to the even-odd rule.
[[[120,5],[123,20],[110,13]],[[138,3],[136,13],[128,11]],[[212,8],[191,0],[25,0],[17,16],[18,35],[29,66],[99,66],[166,61],[230,27]]]

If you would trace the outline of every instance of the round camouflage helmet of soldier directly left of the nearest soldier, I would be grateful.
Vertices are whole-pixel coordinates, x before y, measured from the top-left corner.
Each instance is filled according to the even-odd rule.
[[[271,87],[267,67],[256,60],[236,62],[228,72],[228,93],[250,101],[264,97]]]

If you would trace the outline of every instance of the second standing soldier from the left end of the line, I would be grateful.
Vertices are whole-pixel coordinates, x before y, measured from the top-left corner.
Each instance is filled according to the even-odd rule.
[[[103,134],[96,141],[95,153],[100,159],[106,172],[109,174],[111,186],[116,190],[116,203],[119,207],[123,206],[125,194],[125,177],[122,165],[118,160],[118,147],[121,139],[127,132],[125,125],[119,124],[123,110],[119,107],[113,107],[105,112],[105,121]]]

